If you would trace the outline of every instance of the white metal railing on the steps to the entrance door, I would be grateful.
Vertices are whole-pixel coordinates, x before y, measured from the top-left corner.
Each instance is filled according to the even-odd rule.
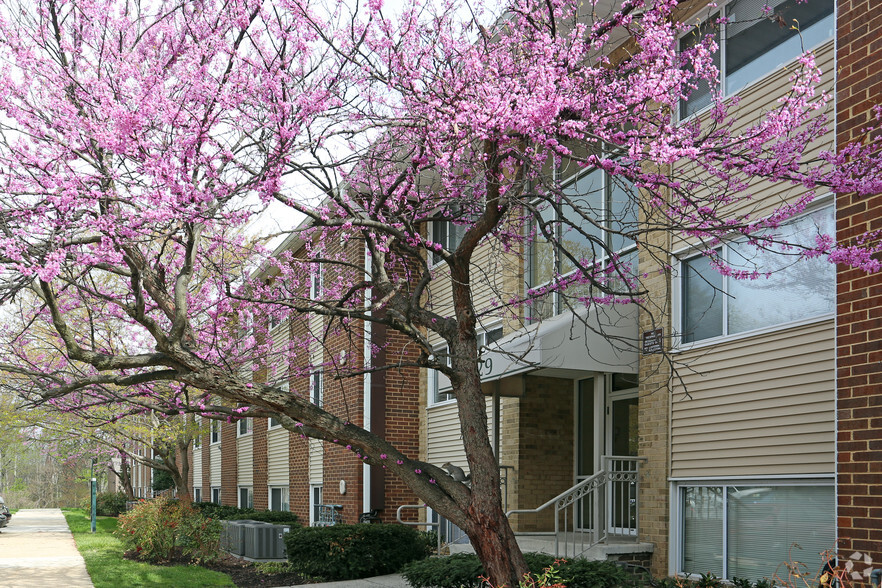
[[[554,538],[557,557],[576,557],[613,536],[637,541],[639,535],[640,464],[642,457],[603,456],[603,468],[593,476],[561,492],[536,508],[510,510],[506,514],[551,512],[553,531],[521,531],[519,536]]]

